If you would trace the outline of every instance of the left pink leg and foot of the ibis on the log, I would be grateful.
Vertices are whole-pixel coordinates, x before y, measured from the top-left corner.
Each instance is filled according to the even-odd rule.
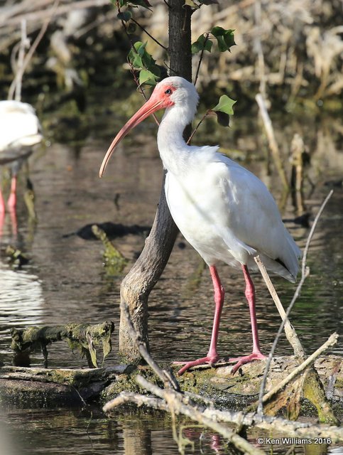
[[[189,368],[194,367],[195,365],[204,365],[205,363],[212,363],[217,362],[219,359],[219,355],[217,352],[217,341],[218,341],[218,333],[219,333],[219,323],[220,323],[220,316],[222,315],[222,308],[224,304],[224,288],[219,279],[219,275],[217,272],[217,268],[214,265],[209,266],[209,272],[211,273],[213,288],[214,288],[214,320],[213,320],[213,327],[212,327],[212,336],[211,336],[211,343],[209,343],[209,351],[206,357],[198,358],[197,360],[192,360],[191,362],[187,362],[183,368],[178,371],[178,375],[182,375],[187,371]]]

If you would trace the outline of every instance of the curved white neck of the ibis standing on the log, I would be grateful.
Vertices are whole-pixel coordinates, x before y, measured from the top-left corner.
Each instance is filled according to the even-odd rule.
[[[192,147],[183,139],[183,131],[191,121],[187,109],[173,106],[165,110],[158,128],[157,144],[160,158],[165,169],[175,175],[185,173],[187,170]]]

